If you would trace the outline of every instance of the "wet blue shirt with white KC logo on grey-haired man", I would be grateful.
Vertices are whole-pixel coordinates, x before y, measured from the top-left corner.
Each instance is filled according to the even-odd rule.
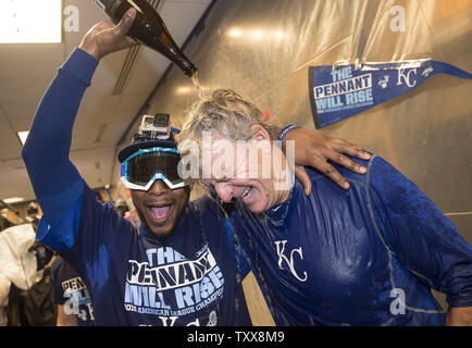
[[[344,190],[309,171],[288,201],[232,215],[278,325],[444,325],[431,288],[472,306],[472,249],[436,206],[378,157]]]

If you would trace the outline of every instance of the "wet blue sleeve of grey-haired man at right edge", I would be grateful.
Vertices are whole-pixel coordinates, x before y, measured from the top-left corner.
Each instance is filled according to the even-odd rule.
[[[451,307],[472,306],[472,248],[417,185],[375,157],[369,167],[370,210],[401,264]]]

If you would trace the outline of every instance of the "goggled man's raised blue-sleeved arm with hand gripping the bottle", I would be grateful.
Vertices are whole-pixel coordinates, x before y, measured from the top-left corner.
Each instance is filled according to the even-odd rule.
[[[135,10],[128,11],[116,26],[102,21],[92,27],[79,49],[61,66],[36,111],[22,157],[50,225],[84,189],[83,179],[69,159],[72,129],[84,92],[102,57],[135,45],[126,37],[135,14]]]

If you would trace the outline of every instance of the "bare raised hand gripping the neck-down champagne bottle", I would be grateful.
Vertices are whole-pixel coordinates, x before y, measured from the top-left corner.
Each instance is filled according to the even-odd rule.
[[[135,18],[136,10],[132,8],[117,25],[110,20],[101,21],[88,30],[78,48],[100,60],[109,53],[138,45],[127,36]]]

